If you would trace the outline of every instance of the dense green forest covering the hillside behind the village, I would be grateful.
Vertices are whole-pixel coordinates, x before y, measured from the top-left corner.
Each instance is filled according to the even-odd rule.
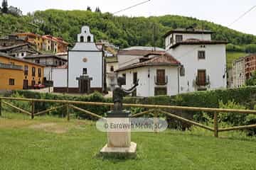
[[[0,14],[0,36],[15,32],[54,35],[73,44],[81,26],[90,26],[96,40],[109,40],[119,47],[134,45],[164,47],[163,35],[171,29],[213,30],[213,40],[227,40],[228,51],[256,52],[256,36],[240,33],[208,21],[184,16],[128,17],[92,11],[50,9],[16,17]],[[155,35],[155,36],[154,36]]]

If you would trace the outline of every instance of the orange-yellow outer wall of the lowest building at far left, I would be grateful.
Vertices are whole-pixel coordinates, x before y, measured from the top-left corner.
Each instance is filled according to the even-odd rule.
[[[34,80],[36,84],[38,84],[38,81],[41,81],[41,84],[43,84],[43,77],[44,77],[44,67],[43,66],[39,66],[39,65],[33,64],[33,63],[13,60],[13,59],[9,59],[9,58],[6,58],[6,57],[1,57],[1,56],[0,56],[0,62],[1,63],[5,63],[5,64],[14,63],[14,65],[22,66],[23,69],[24,69],[25,65],[28,66],[28,75],[24,75],[24,71],[22,70],[21,71],[22,72],[22,76],[20,76],[20,74],[18,74],[19,76],[16,77],[15,81],[17,81],[17,82],[22,81],[22,86],[20,86],[20,84],[18,85],[19,89],[23,89],[23,79],[27,79],[28,80],[28,86],[31,86],[32,80]],[[32,68],[33,67],[36,68],[36,74],[35,74],[34,77],[32,76]],[[38,77],[38,68],[41,68],[41,77]],[[9,69],[9,72],[5,71],[4,72],[5,76],[6,77],[11,77],[13,75],[13,71],[14,71],[13,69]],[[1,72],[0,72],[0,74],[1,74]],[[9,79],[11,79],[11,78],[9,78]],[[9,87],[9,88],[12,88],[12,87]]]

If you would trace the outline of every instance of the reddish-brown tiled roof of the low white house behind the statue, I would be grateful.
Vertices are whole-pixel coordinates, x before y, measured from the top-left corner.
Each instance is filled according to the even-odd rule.
[[[145,60],[146,57],[143,57]],[[150,66],[150,65],[174,65],[178,66],[181,63],[178,62],[173,56],[171,56],[169,53],[165,52],[164,55],[154,55],[153,57],[148,58],[148,60],[144,62],[137,62],[134,64],[127,65],[125,67],[121,67],[117,69],[116,72],[124,71],[127,69],[135,69],[138,67],[145,67],[145,66]]]

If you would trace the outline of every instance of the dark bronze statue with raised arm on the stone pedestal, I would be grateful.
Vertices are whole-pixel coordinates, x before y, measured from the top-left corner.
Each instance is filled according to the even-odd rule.
[[[139,85],[139,79],[137,82],[132,86],[131,89],[122,89],[122,85],[125,84],[125,77],[118,77],[117,78],[117,84],[118,86],[114,87],[113,91],[113,101],[114,101],[114,113],[122,113],[122,101],[124,96],[127,96],[128,94],[132,94],[132,92],[136,89],[136,87]]]

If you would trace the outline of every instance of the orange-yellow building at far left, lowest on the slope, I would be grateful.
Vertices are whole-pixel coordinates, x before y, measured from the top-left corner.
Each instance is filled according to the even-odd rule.
[[[43,84],[44,66],[0,52],[0,90],[20,90]]]

